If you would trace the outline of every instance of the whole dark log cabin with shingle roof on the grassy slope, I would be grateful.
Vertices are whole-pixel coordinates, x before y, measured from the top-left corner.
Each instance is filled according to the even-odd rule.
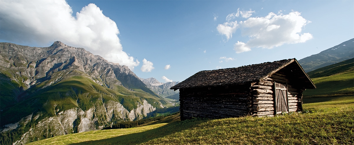
[[[200,71],[179,89],[181,120],[274,116],[302,110],[302,92],[316,86],[295,58]]]

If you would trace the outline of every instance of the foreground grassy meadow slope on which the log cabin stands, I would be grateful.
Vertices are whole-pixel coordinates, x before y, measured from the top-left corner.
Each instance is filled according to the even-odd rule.
[[[32,144],[353,144],[354,100],[304,104],[307,113],[194,119],[57,136]],[[323,105],[327,105],[324,106]],[[322,106],[322,107],[321,107]],[[334,107],[333,107],[334,106]]]

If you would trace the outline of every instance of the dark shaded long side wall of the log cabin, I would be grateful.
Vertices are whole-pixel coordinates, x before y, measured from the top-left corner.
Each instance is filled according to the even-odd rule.
[[[180,89],[181,120],[248,115],[250,85]]]

